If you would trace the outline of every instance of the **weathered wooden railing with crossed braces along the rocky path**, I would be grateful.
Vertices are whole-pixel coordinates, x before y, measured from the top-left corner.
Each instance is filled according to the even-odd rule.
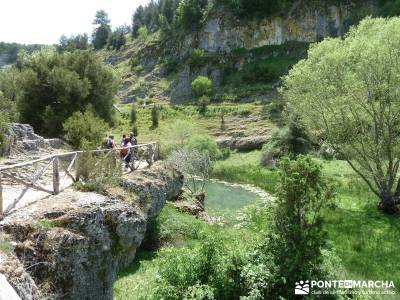
[[[142,162],[146,160],[149,166],[158,159],[159,155],[159,146],[156,142],[147,143],[147,144],[139,144],[136,146],[131,146],[131,151],[134,153],[132,155],[133,162],[139,161]],[[80,175],[78,174],[78,158],[83,153],[98,153],[98,154],[105,154],[105,157],[109,155],[113,155],[113,157],[119,156],[119,151],[122,148],[114,148],[114,149],[99,149],[99,150],[91,150],[91,151],[73,151],[73,152],[66,152],[54,155],[48,155],[36,160],[31,160],[19,164],[14,165],[6,165],[0,166],[0,214],[6,214],[15,206],[17,203],[22,199],[22,197],[26,194],[29,189],[35,189],[41,192],[45,192],[51,195],[57,195],[65,188],[67,188],[70,184],[66,186],[62,186],[63,181],[66,178],[70,178],[72,182],[79,181]],[[136,156],[136,157],[135,157]],[[68,164],[60,163],[61,161],[66,161]],[[99,162],[100,163],[100,160]],[[30,178],[23,178],[16,174],[11,173],[13,170],[23,170],[26,167],[32,166],[39,166],[42,165],[38,172],[33,177]],[[38,183],[39,179],[43,177],[44,174],[52,167],[52,183],[51,187],[43,186]],[[131,167],[130,171],[134,171],[135,167]],[[75,171],[75,172],[74,172]],[[62,174],[64,173],[64,174]],[[63,179],[61,179],[61,175],[64,175]],[[12,204],[9,205],[7,208],[4,207],[4,195],[3,195],[3,186],[4,186],[4,179],[7,178],[12,182],[16,182],[19,185],[23,186],[23,189],[18,197],[16,197]]]

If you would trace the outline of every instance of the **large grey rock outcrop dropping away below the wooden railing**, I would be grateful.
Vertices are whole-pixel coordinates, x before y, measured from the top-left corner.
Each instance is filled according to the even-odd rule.
[[[45,292],[57,299],[112,299],[118,271],[133,261],[149,220],[180,193],[182,181],[156,164],[124,177],[123,189],[107,195],[67,190],[18,210],[0,226]]]

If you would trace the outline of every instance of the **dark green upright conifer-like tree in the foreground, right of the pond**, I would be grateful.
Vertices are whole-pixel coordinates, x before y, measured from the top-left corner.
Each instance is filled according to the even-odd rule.
[[[334,193],[310,157],[283,159],[279,164],[276,211],[264,251],[276,266],[267,299],[292,298],[299,278],[320,278],[325,245],[322,209]]]

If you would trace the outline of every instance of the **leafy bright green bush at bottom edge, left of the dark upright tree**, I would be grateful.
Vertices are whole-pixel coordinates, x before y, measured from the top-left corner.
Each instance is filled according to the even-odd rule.
[[[241,260],[214,234],[193,249],[169,250],[159,268],[155,299],[236,299]]]

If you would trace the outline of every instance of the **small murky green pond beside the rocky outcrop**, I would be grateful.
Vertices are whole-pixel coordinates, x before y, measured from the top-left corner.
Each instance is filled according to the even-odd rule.
[[[206,210],[212,214],[232,214],[257,199],[257,194],[240,186],[220,182],[209,182],[206,186]]]

